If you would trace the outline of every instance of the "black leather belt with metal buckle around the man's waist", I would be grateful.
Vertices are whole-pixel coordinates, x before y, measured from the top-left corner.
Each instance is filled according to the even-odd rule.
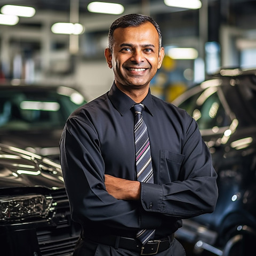
[[[137,239],[113,235],[96,236],[91,234],[82,234],[81,238],[86,238],[99,244],[110,245],[116,249],[121,248],[134,252],[140,252],[140,255],[154,255],[158,252],[163,252],[170,247],[171,242],[174,239],[174,233],[163,239],[148,241],[145,245],[142,245]]]

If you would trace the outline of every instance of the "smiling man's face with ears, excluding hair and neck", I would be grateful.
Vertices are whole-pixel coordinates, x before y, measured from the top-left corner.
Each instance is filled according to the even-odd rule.
[[[147,22],[139,27],[115,29],[113,52],[108,49],[105,56],[113,68],[116,85],[129,90],[149,86],[161,67],[164,49],[159,52],[157,30]]]

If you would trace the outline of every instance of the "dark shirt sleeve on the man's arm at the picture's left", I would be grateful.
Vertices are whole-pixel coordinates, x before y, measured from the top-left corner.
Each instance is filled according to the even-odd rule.
[[[106,191],[100,141],[90,122],[85,123],[76,117],[68,119],[60,141],[60,153],[75,221],[82,226],[85,221],[91,221],[112,229],[132,231],[142,228],[138,202],[116,199]],[[150,215],[149,212],[145,218]],[[155,222],[156,226],[161,220],[158,222]]]

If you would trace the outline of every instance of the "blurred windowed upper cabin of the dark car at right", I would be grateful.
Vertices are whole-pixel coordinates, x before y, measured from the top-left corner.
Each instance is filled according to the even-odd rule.
[[[200,130],[227,127],[234,119],[238,120],[240,127],[255,125],[256,87],[250,77],[242,77],[236,86],[229,80],[222,82],[222,86],[200,91],[198,86],[188,92],[178,106],[195,118]]]

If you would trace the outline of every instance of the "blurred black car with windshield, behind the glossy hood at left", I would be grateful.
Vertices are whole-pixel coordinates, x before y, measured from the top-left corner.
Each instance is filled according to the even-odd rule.
[[[59,161],[65,122],[84,103],[71,87],[0,85],[0,143]]]

